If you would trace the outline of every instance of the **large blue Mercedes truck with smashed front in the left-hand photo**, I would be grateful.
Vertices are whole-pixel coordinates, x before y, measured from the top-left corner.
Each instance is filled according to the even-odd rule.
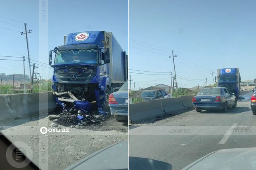
[[[126,52],[111,32],[69,33],[64,36],[64,45],[49,55],[56,102],[63,109],[85,112],[94,104],[100,113],[106,113],[109,94],[128,79],[127,61]]]

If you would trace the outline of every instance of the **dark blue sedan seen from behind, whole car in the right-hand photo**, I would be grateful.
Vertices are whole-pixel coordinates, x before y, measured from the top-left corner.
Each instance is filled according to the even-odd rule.
[[[192,98],[192,102],[197,112],[210,109],[223,109],[227,112],[228,107],[237,107],[235,94],[225,87],[203,88]]]

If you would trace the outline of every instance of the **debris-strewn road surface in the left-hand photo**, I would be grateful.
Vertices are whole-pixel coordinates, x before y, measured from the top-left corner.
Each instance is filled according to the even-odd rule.
[[[127,123],[117,122],[113,116],[83,129],[60,124],[51,127],[54,121],[47,116],[48,113],[1,124],[1,132],[11,142],[19,142],[16,146],[42,170],[62,170],[104,147],[127,140]],[[48,129],[46,134],[40,133],[43,126]]]

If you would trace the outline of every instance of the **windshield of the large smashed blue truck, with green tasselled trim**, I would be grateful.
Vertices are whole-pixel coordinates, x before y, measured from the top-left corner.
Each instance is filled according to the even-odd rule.
[[[97,49],[58,50],[55,64],[59,63],[98,63],[98,51]]]

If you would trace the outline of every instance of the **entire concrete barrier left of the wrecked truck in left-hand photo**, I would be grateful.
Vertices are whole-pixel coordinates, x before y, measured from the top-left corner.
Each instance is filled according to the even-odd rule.
[[[52,112],[56,107],[51,92],[0,95],[0,121]]]

